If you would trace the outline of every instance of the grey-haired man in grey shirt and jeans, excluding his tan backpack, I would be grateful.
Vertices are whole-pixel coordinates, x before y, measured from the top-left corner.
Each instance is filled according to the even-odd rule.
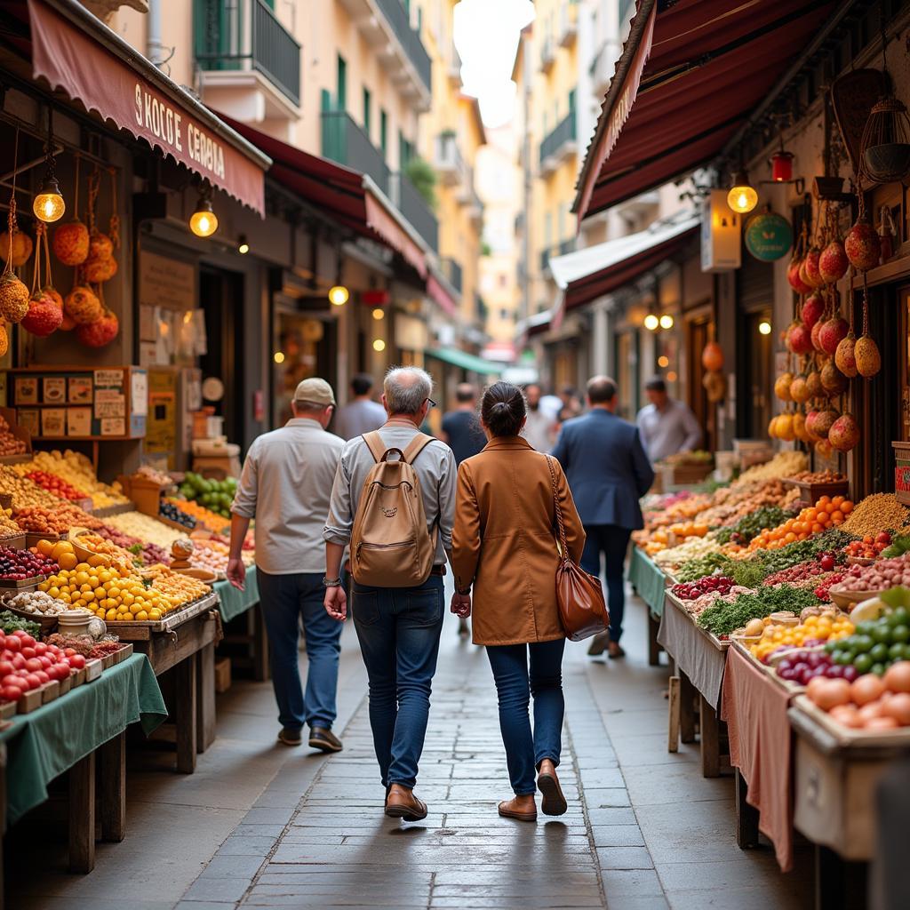
[[[382,404],[388,420],[379,428],[379,436],[387,449],[404,452],[435,404],[430,399],[433,380],[422,369],[399,367],[389,370],[384,389]],[[362,436],[350,440],[341,452],[332,487],[329,519],[323,532],[325,609],[339,622],[348,614],[341,557],[351,539],[364,480],[375,464]],[[385,813],[406,822],[427,816],[426,804],[413,790],[440,650],[442,576],[446,559],[451,562],[457,476],[452,450],[440,440],[430,440],[411,464],[420,481],[430,537],[434,528],[439,531],[430,578],[416,588],[369,588],[355,582],[352,595],[354,628],[369,678],[369,725],[386,787]]]

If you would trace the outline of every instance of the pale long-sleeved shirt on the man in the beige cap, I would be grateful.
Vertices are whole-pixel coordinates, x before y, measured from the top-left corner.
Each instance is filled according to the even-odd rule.
[[[249,447],[231,511],[256,519],[256,564],[269,575],[325,574],[322,529],[344,442],[295,417]]]

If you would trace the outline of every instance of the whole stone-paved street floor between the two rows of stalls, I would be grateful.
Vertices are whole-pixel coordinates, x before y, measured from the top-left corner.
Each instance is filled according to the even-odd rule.
[[[344,637],[339,729],[325,758],[274,744],[270,686],[235,684],[219,701],[218,739],[197,773],[167,753],[130,756],[127,835],[93,875],[35,877],[23,856],[17,910],[235,910],[258,906],[801,910],[807,875],[781,875],[768,848],[733,839],[733,784],[705,780],[696,746],[666,751],[666,669],[644,656],[644,607],[627,610],[625,662],[569,645],[560,774],[568,814],[501,819],[510,795],[486,655],[443,631],[420,764],[424,823],[381,814],[366,674]],[[305,659],[304,659],[305,664]],[[301,798],[302,794],[302,798]],[[147,834],[143,835],[142,832]],[[149,836],[149,832],[155,832]],[[63,861],[55,863],[63,867]],[[798,867],[811,868],[809,857]],[[145,899],[136,899],[136,883]]]

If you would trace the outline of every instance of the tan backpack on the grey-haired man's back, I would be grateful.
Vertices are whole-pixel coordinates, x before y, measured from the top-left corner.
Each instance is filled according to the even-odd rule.
[[[427,530],[414,460],[433,441],[418,433],[408,448],[386,449],[379,432],[363,437],[376,464],[360,493],[350,538],[354,581],[370,588],[416,588],[430,577],[437,530]],[[389,455],[398,459],[389,460]]]

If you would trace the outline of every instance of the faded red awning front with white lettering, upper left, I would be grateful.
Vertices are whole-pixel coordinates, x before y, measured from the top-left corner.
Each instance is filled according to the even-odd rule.
[[[268,158],[75,0],[28,0],[32,72],[265,215]]]

